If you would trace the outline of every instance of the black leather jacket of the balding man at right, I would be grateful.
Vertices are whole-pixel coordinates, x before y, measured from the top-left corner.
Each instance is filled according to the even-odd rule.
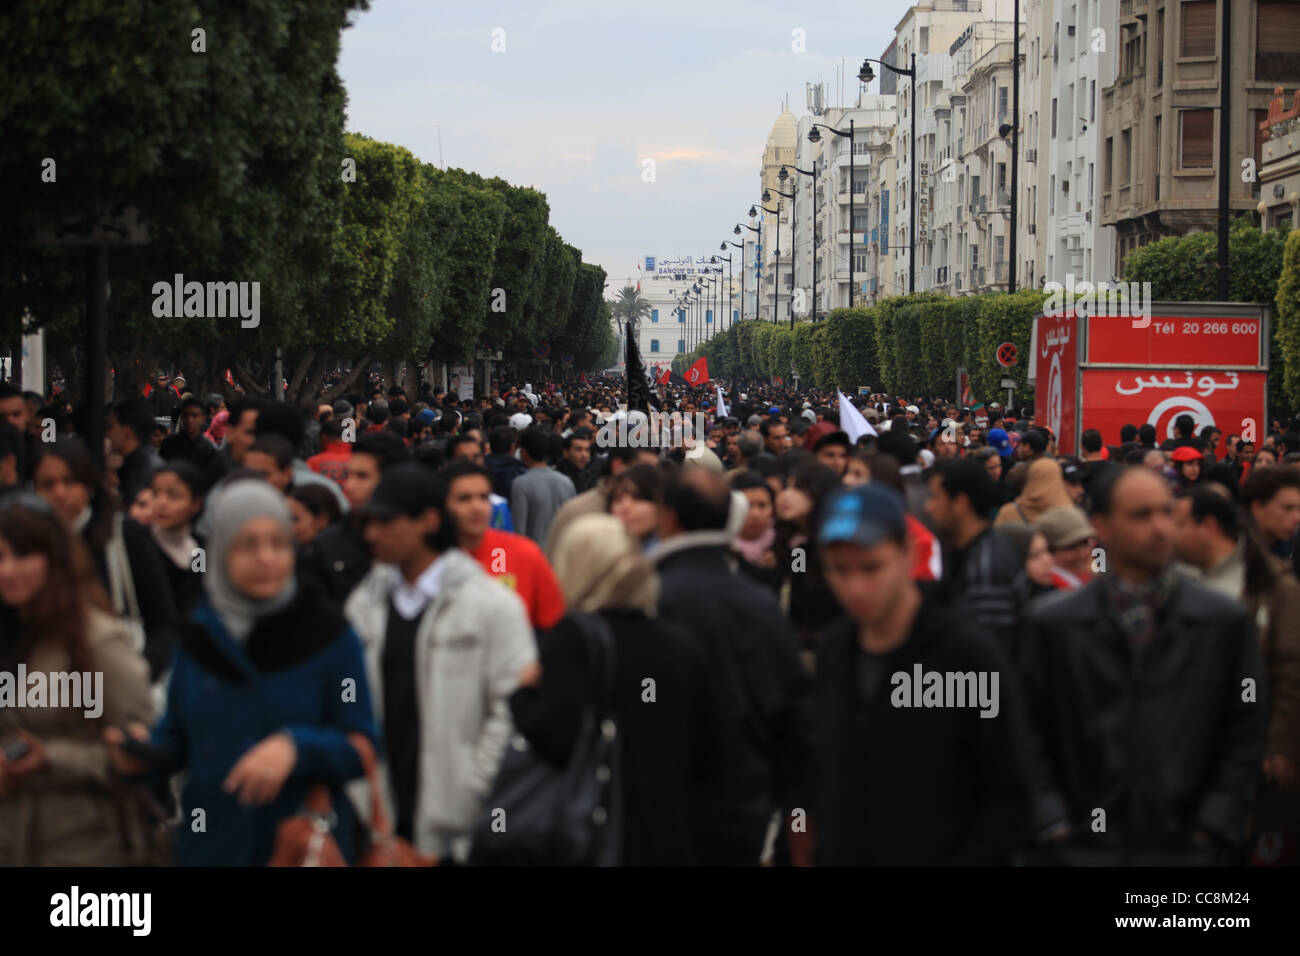
[[[1032,822],[1066,822],[1060,862],[1192,864],[1245,834],[1268,702],[1254,628],[1236,601],[1180,581],[1138,656],[1104,579],[1028,609],[1019,648],[1031,724]],[[1253,679],[1256,702],[1244,702]],[[1095,810],[1105,810],[1105,832]]]

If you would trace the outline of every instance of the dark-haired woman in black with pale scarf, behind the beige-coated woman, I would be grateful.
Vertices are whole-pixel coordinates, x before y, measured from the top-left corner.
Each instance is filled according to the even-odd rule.
[[[90,453],[75,438],[38,449],[31,484],[90,549],[112,609],[126,619],[142,644],[150,679],[161,679],[172,659],[181,615],[150,532],[121,515]]]

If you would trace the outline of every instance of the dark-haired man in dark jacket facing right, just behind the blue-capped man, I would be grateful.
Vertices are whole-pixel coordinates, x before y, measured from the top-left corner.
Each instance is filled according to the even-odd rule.
[[[1010,646],[1024,602],[1023,562],[987,515],[997,485],[982,462],[948,459],[930,476],[926,512],[944,540],[944,592],[962,617]]]

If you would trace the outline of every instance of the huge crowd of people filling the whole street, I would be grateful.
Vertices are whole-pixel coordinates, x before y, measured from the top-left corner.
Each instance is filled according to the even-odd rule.
[[[1075,457],[1030,408],[625,402],[160,375],[92,450],[0,385],[0,672],[103,674],[0,706],[0,864],[264,865],[321,787],[347,861],[374,805],[511,858],[503,761],[606,695],[624,865],[1300,861],[1300,420]]]

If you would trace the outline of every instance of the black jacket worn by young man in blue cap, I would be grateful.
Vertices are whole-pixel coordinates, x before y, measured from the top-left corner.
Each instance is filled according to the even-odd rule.
[[[926,601],[906,643],[870,658],[876,687],[870,700],[859,689],[867,661],[850,620],[822,635],[818,861],[1009,862],[1027,806],[1023,700],[1010,659],[953,610]],[[918,663],[922,674],[997,674],[996,717],[982,717],[978,706],[894,706],[893,675],[910,680]],[[905,689],[901,682],[897,689]]]

